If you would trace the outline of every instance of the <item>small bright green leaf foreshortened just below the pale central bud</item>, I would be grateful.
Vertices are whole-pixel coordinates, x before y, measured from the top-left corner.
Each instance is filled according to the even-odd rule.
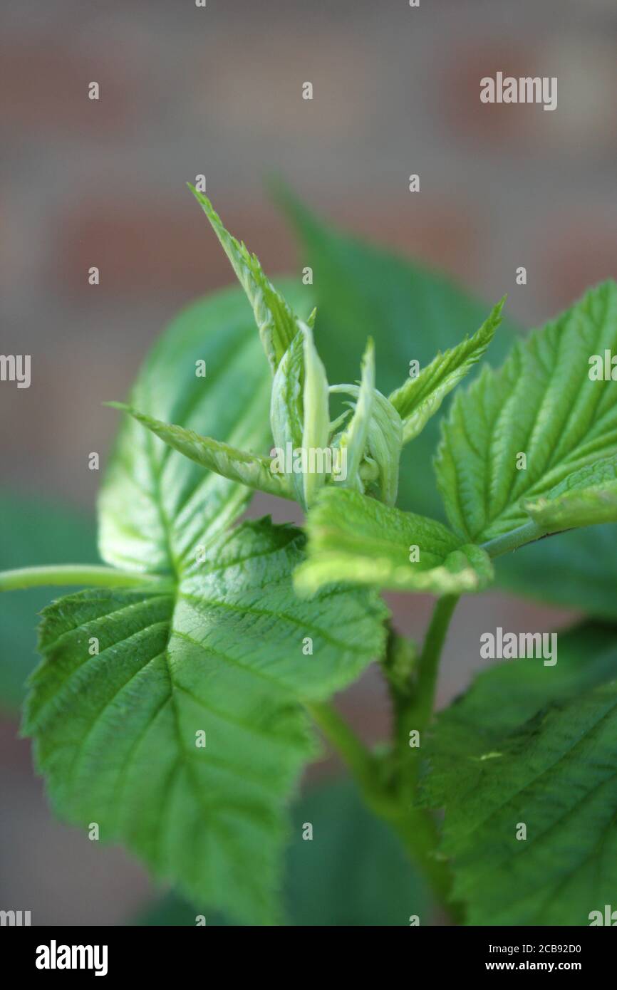
[[[492,576],[484,551],[462,546],[441,523],[351,489],[325,488],[308,515],[307,533],[308,559],[294,575],[296,588],[305,593],[349,581],[393,591],[459,594],[480,590]]]

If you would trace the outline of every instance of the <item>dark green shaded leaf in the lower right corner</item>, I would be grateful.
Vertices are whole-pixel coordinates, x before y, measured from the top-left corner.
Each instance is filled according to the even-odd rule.
[[[471,925],[588,925],[617,883],[617,639],[585,626],[559,662],[506,660],[438,716],[425,803]],[[520,823],[526,840],[517,840]]]

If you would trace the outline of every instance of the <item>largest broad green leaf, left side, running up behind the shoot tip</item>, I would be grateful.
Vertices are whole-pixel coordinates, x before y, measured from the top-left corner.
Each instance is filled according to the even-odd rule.
[[[195,374],[202,361],[206,378]],[[133,404],[258,451],[268,445],[268,391],[235,290],[174,321]],[[61,817],[96,822],[102,841],[123,841],[194,900],[261,924],[278,918],[285,806],[313,751],[302,704],[379,654],[386,610],[372,592],[342,588],[299,601],[291,574],[304,538],[267,521],[230,532],[249,497],[123,421],[103,486],[101,551],[151,580],[46,611],[26,731]],[[164,575],[159,586],[153,573]]]

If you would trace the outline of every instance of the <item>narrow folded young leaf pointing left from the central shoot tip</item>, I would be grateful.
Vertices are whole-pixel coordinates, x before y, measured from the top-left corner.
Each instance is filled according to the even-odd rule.
[[[244,450],[237,450],[233,446],[212,440],[211,437],[200,437],[194,430],[184,430],[182,427],[161,423],[160,420],[145,416],[122,402],[109,402],[107,405],[129,413],[142,426],[152,430],[154,435],[165,444],[172,446],[185,457],[190,457],[202,467],[215,471],[230,481],[237,481],[270,495],[293,498],[293,492],[285,476],[270,471],[270,457],[246,453]]]

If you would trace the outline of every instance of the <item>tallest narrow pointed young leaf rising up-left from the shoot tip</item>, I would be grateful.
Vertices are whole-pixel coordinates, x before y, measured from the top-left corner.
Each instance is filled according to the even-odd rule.
[[[198,192],[190,183],[189,188],[210,221],[247,293],[255,314],[259,337],[273,373],[298,332],[296,318],[283,296],[264,275],[257,256],[251,254],[244,244],[225,229],[208,197]]]

